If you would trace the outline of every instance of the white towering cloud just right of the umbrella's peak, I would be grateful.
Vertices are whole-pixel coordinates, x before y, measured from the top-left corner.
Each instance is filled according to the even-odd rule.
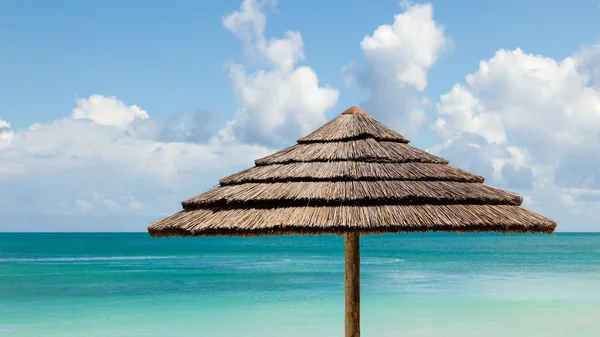
[[[422,95],[427,74],[451,40],[434,20],[431,4],[403,2],[402,7],[392,24],[379,26],[361,41],[364,66],[345,70],[347,82],[368,93],[361,105],[410,136],[427,122],[429,100]]]

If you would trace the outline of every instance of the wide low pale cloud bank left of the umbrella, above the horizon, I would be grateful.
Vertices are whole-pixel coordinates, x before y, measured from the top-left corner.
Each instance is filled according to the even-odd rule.
[[[0,212],[144,214],[156,220],[270,152],[219,134],[202,142],[169,140],[165,130],[171,129],[140,107],[100,95],[76,100],[71,116],[49,124],[13,130],[2,121]],[[89,229],[80,225],[68,229]]]

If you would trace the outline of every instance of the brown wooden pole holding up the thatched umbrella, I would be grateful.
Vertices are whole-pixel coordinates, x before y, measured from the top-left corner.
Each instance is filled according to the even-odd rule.
[[[346,262],[346,337],[360,337],[360,234],[344,235]]]

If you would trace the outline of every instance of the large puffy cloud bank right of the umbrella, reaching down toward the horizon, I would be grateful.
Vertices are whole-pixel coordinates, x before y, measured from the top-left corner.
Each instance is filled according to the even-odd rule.
[[[598,56],[600,45],[563,60],[498,50],[441,96],[435,150],[457,164],[481,163],[479,172],[523,189],[532,205],[559,219],[593,223],[600,209]],[[465,144],[476,150],[464,156]]]

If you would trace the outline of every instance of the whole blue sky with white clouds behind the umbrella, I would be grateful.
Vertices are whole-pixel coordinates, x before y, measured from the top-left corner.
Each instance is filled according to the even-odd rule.
[[[0,0],[0,231],[144,231],[352,105],[600,231],[586,0]]]

